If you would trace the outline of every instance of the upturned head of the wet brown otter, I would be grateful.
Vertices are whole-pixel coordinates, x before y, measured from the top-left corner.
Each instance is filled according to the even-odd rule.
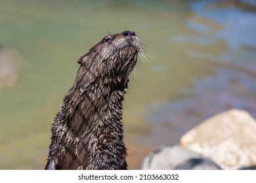
[[[141,51],[142,44],[135,33],[123,31],[119,34],[106,35],[77,62],[95,77],[117,77],[127,80]]]

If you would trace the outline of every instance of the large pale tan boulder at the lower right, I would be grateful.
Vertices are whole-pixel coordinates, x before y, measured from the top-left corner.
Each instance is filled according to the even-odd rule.
[[[256,121],[244,110],[221,112],[184,134],[181,145],[212,159],[223,169],[253,169]]]

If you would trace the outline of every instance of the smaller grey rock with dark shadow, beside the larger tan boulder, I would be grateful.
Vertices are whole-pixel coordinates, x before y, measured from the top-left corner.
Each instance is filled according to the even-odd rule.
[[[163,146],[150,153],[142,162],[144,170],[220,169],[213,161],[179,145]]]

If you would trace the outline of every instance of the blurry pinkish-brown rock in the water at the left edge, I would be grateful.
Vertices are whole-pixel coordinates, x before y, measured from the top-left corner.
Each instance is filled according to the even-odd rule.
[[[28,62],[16,50],[0,46],[0,90],[14,86]]]

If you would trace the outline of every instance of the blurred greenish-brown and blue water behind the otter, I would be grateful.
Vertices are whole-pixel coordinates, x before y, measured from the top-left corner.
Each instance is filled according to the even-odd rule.
[[[125,30],[157,59],[139,60],[130,76],[129,169],[217,112],[256,117],[255,1],[1,0],[0,169],[44,169],[77,59]]]

